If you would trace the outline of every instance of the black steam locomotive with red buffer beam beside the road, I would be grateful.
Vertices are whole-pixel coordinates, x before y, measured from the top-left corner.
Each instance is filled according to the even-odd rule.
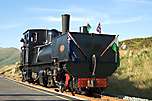
[[[29,29],[20,40],[22,81],[57,87],[61,92],[101,92],[119,66],[117,36],[70,32],[70,15],[62,15],[62,32]]]

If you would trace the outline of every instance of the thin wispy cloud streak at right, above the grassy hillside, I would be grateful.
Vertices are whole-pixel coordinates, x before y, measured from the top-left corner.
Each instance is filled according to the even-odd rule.
[[[130,18],[125,18],[121,20],[108,20],[104,21],[103,24],[125,24],[125,23],[133,23],[137,21],[141,21],[143,19],[142,16],[137,16],[137,17],[130,17]]]

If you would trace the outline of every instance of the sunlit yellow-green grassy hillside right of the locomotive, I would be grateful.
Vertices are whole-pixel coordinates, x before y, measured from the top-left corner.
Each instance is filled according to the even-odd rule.
[[[152,99],[152,37],[125,40],[126,50],[120,49],[120,67],[110,77],[112,94]]]

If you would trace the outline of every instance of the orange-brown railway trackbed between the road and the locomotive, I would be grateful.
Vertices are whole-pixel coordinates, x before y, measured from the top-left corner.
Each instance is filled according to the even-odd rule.
[[[137,97],[129,97],[129,96],[120,96],[120,95],[111,95],[111,94],[105,94],[103,93],[103,95],[101,95],[101,97],[95,98],[95,97],[89,97],[89,96],[85,96],[85,95],[79,95],[79,94],[75,94],[75,96],[73,96],[71,94],[71,92],[56,92],[55,88],[46,88],[40,85],[35,85],[32,83],[28,83],[28,82],[21,82],[21,79],[19,78],[11,78],[11,77],[4,77],[3,75],[0,75],[0,78],[6,78],[8,80],[14,81],[16,83],[19,83],[21,85],[24,86],[28,86],[40,91],[44,91],[47,93],[54,93],[54,94],[58,94],[59,96],[65,97],[65,98],[73,98],[73,99],[79,99],[79,100],[89,100],[89,101],[152,101],[152,100],[148,100],[148,99],[142,99],[142,98],[137,98]]]

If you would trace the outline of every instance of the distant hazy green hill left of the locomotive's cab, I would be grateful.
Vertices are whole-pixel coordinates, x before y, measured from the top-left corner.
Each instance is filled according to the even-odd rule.
[[[19,53],[16,48],[0,48],[0,68],[19,61]]]

